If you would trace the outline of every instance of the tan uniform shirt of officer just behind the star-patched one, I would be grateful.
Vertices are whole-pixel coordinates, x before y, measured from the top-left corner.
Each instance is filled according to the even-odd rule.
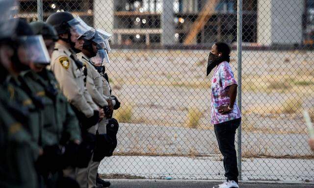
[[[100,73],[91,64],[89,58],[82,52],[77,54],[78,60],[80,60],[87,69],[86,88],[88,93],[92,96],[93,101],[100,107],[107,106],[106,98],[99,89],[102,88],[102,79]]]

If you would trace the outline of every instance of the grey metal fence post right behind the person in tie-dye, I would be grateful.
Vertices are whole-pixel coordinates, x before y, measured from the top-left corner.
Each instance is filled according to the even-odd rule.
[[[237,0],[237,33],[236,33],[236,52],[237,52],[237,105],[242,111],[241,92],[242,92],[242,0]],[[242,123],[241,123],[242,124]],[[241,164],[241,124],[237,129],[237,167],[239,171],[238,179],[242,179]]]

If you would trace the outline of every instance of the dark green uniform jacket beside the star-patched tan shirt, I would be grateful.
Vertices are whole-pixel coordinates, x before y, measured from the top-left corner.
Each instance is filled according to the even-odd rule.
[[[65,96],[58,91],[58,83],[53,73],[49,70],[44,70],[40,74],[25,71],[21,78],[33,94],[43,98],[45,106],[41,111],[43,142],[47,145],[60,144],[61,137],[65,135],[70,141],[81,140],[78,119]],[[54,94],[51,91],[53,89],[56,92]]]

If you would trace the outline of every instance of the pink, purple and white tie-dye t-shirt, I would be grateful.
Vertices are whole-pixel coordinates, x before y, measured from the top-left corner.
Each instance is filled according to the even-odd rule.
[[[215,68],[211,80],[211,123],[219,124],[241,118],[237,105],[227,114],[220,114],[218,108],[230,103],[229,86],[237,84],[235,76],[228,62],[222,62]]]

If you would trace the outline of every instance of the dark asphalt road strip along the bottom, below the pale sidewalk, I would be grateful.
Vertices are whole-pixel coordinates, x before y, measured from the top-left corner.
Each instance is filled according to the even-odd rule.
[[[191,180],[110,180],[110,188],[212,188],[221,182]],[[240,188],[314,188],[314,184],[243,182]]]

